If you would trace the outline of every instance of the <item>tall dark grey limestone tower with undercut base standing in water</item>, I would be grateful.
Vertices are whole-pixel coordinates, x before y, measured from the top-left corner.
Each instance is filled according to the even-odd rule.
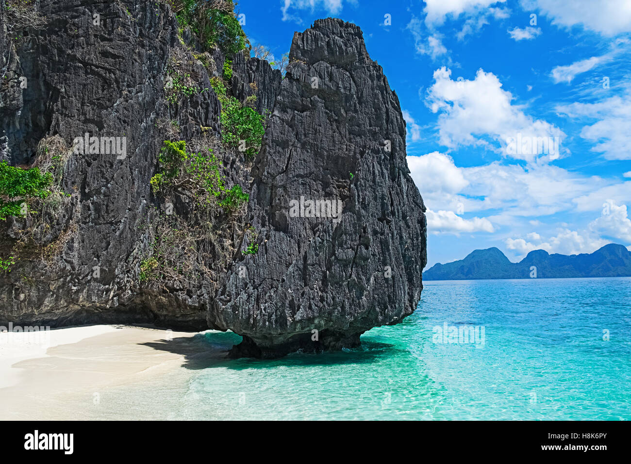
[[[235,354],[357,345],[411,314],[422,289],[425,208],[398,98],[360,28],[315,21],[290,63],[253,172],[259,251],[233,265],[208,316],[244,335]],[[301,197],[341,201],[341,219],[293,217]]]

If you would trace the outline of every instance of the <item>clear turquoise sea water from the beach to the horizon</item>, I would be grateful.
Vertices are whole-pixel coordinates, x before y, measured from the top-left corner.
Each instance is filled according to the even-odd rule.
[[[188,419],[631,418],[631,278],[425,282],[416,312],[345,352],[196,366]],[[484,327],[435,343],[434,327]],[[610,340],[603,340],[603,330]],[[229,348],[240,337],[208,333]],[[457,340],[466,342],[466,340]],[[207,362],[208,364],[208,362]]]

